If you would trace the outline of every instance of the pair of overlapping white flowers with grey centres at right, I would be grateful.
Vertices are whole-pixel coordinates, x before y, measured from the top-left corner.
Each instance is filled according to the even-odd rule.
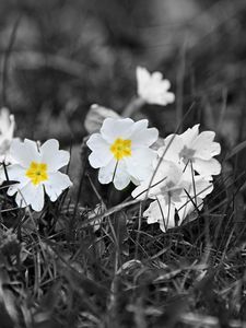
[[[214,132],[199,133],[198,128],[168,136],[157,150],[153,174],[132,192],[134,198],[154,199],[143,216],[164,232],[202,209],[204,197],[213,190],[212,175],[221,172],[213,159],[221,151]]]

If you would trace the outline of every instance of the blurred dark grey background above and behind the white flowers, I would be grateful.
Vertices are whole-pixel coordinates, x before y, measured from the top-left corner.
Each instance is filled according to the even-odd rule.
[[[245,0],[1,0],[1,105],[20,137],[79,149],[90,106],[124,110],[141,65],[176,94],[143,110],[162,136],[192,105],[185,127],[234,145],[246,134],[245,17]]]

